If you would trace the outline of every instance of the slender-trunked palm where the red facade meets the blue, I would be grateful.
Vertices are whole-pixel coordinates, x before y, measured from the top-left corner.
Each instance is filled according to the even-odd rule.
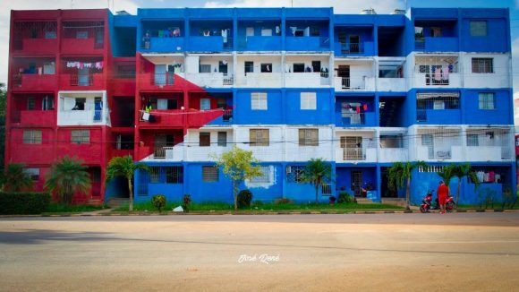
[[[106,167],[106,182],[111,181],[115,176],[123,176],[128,181],[128,190],[130,192],[128,210],[130,211],[133,210],[132,180],[137,169],[148,170],[148,167],[140,163],[134,163],[132,155],[110,159],[108,167]]]

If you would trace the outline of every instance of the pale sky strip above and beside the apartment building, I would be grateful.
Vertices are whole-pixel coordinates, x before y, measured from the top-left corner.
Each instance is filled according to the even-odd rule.
[[[519,0],[1,0],[0,82],[7,80],[11,10],[110,8],[135,14],[137,8],[178,7],[334,7],[335,13],[358,14],[373,8],[379,14],[413,7],[509,7],[512,28],[514,88],[519,96]]]

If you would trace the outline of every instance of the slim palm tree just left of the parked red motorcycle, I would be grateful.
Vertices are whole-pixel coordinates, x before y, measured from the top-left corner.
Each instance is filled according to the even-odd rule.
[[[411,210],[409,201],[411,198],[411,176],[413,169],[416,167],[427,167],[423,161],[417,162],[395,162],[392,167],[387,169],[387,185],[389,189],[396,191],[398,188],[405,186],[405,209]]]

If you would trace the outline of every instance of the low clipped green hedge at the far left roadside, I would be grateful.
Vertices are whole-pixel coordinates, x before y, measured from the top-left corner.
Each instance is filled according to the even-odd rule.
[[[41,214],[50,204],[48,193],[0,193],[0,214]]]

